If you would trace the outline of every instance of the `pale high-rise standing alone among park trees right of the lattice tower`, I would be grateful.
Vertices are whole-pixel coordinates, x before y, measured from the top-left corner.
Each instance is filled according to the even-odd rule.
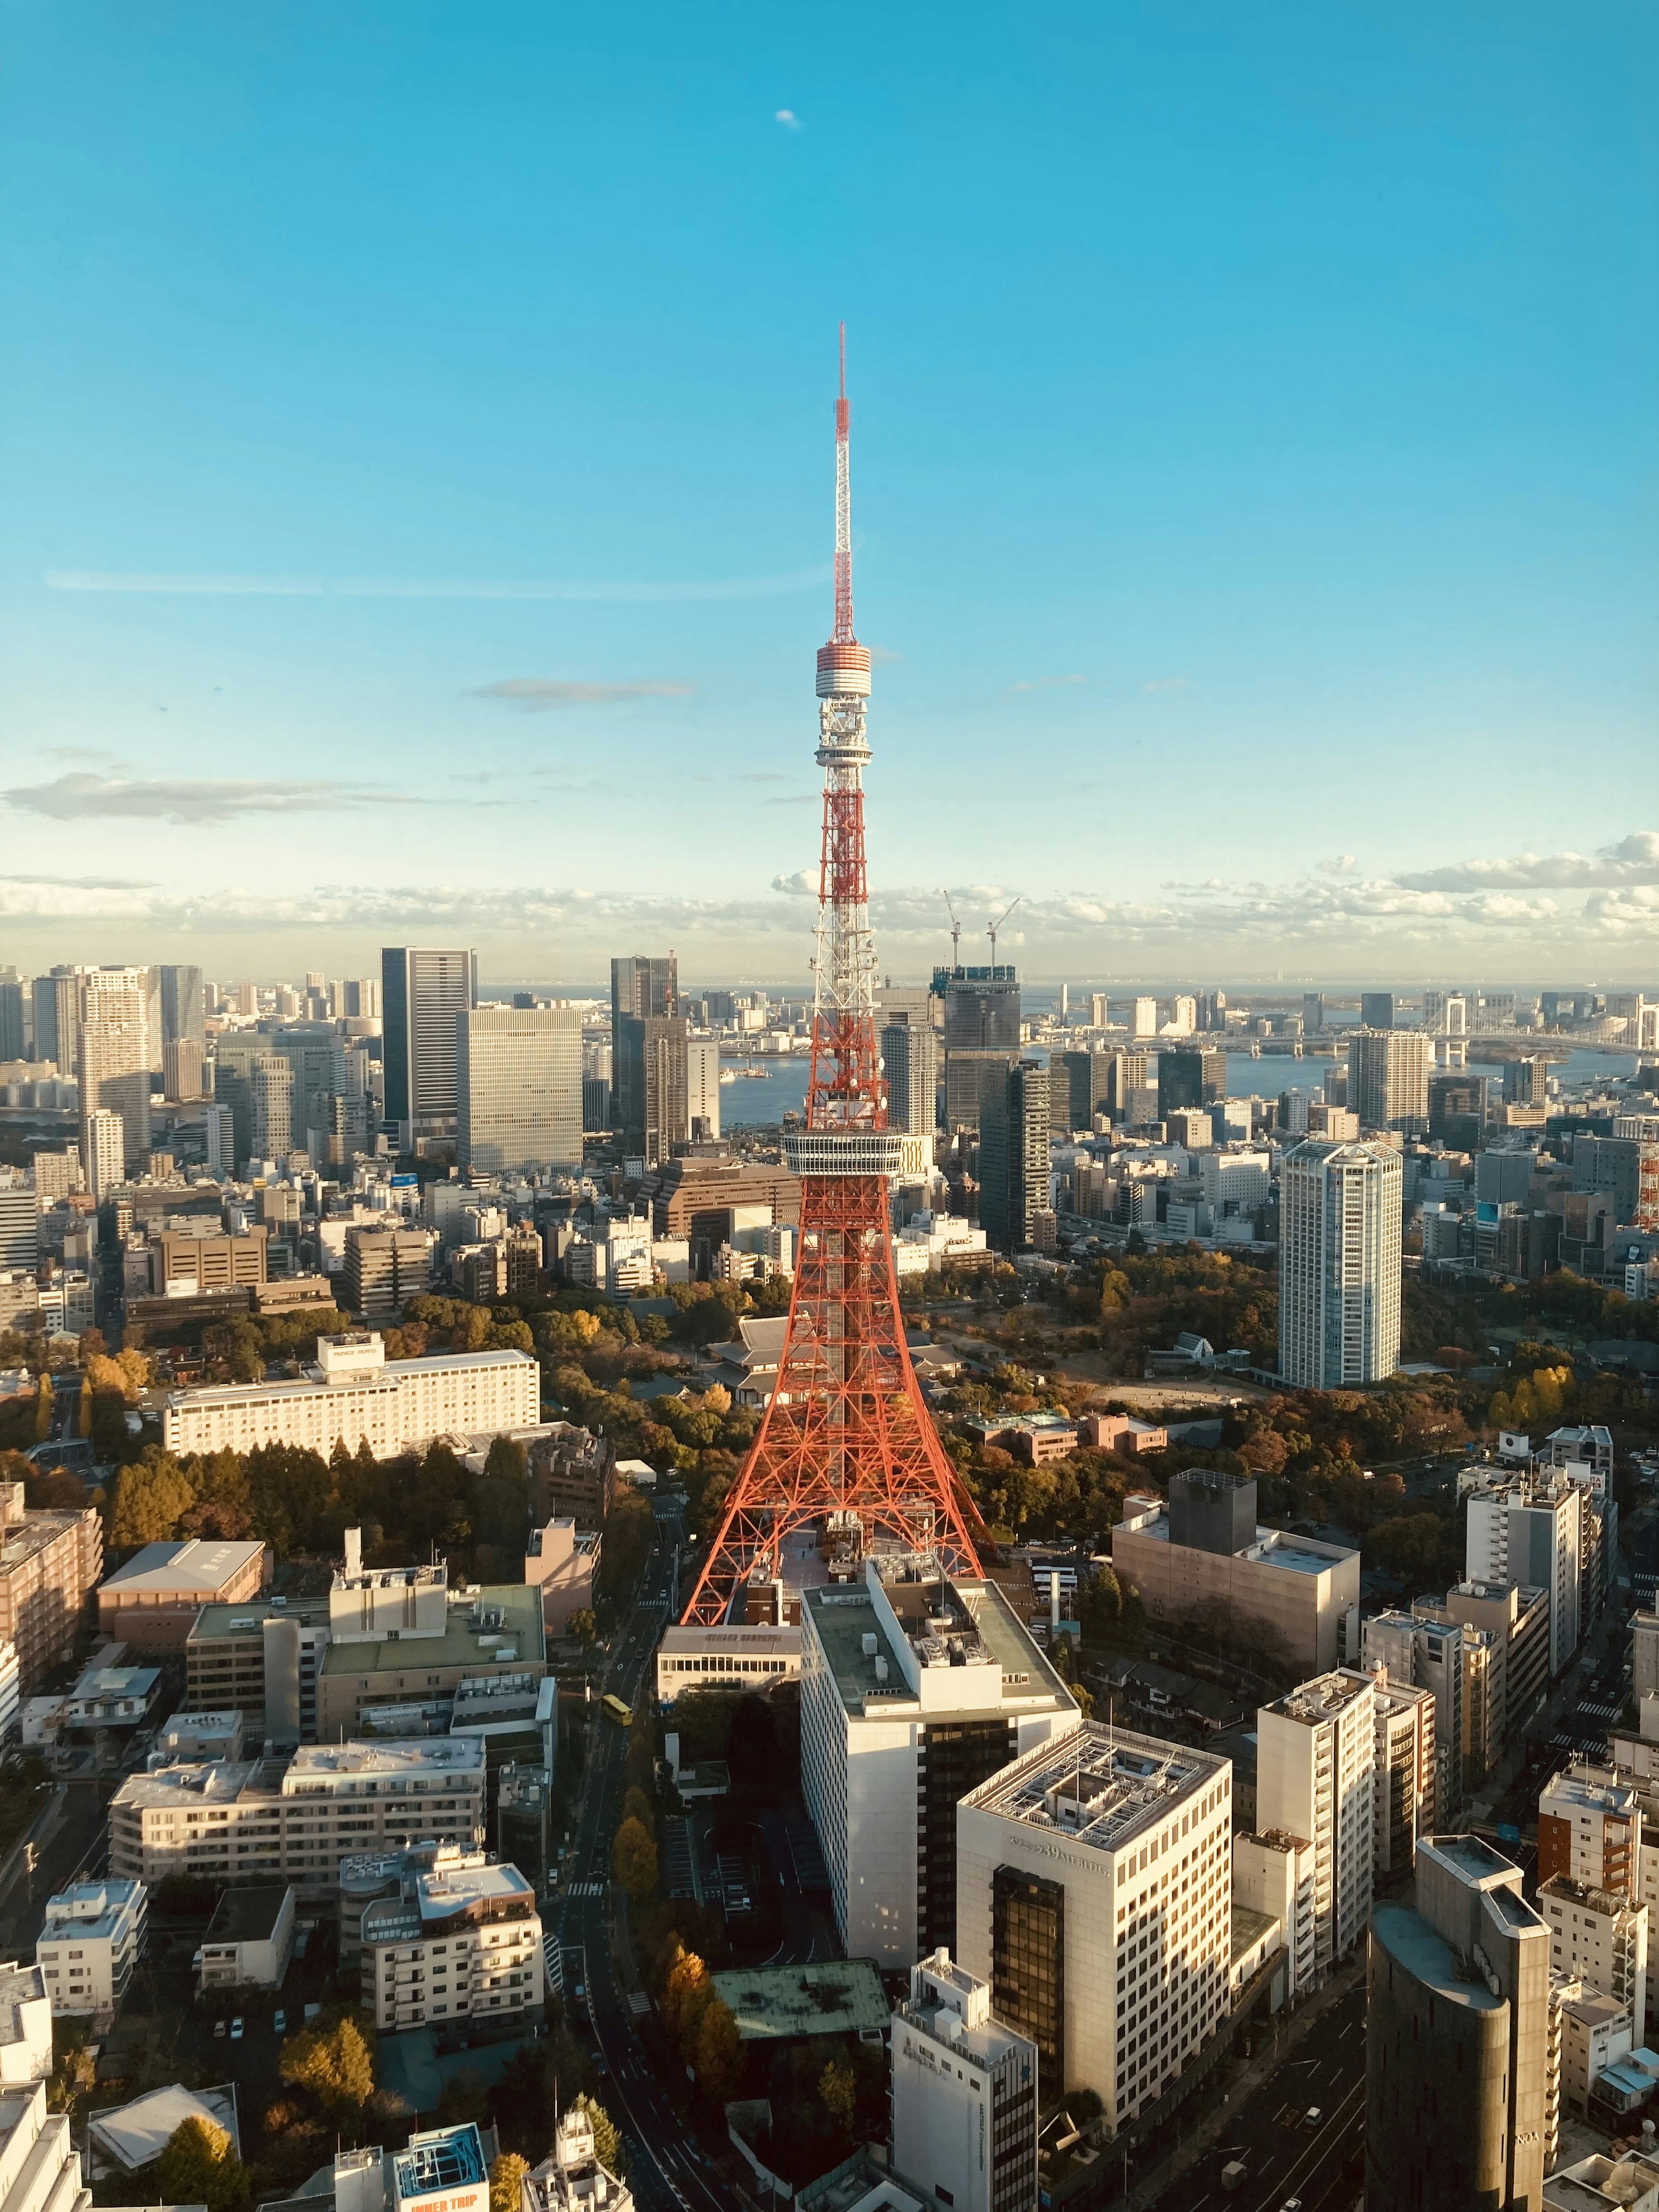
[[[1298,1389],[1400,1365],[1400,1155],[1310,1139],[1279,1172],[1279,1374]]]

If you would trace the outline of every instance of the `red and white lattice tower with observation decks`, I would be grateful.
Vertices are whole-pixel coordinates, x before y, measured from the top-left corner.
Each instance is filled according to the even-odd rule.
[[[916,1387],[898,1314],[887,1183],[905,1137],[887,1128],[876,1046],[876,951],[865,887],[869,648],[852,628],[847,343],[836,400],[836,628],[818,650],[823,860],[805,1128],[783,1159],[801,1177],[801,1243],[779,1380],[726,1500],[686,1621],[726,1619],[759,1564],[816,1522],[863,1544],[896,1537],[975,1575],[984,1524]],[[832,1517],[836,1517],[832,1522]]]

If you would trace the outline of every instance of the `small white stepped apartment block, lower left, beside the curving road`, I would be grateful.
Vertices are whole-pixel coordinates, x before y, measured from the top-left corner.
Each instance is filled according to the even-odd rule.
[[[434,1867],[363,1907],[363,2008],[383,2033],[542,2004],[542,1916],[518,1867]]]

